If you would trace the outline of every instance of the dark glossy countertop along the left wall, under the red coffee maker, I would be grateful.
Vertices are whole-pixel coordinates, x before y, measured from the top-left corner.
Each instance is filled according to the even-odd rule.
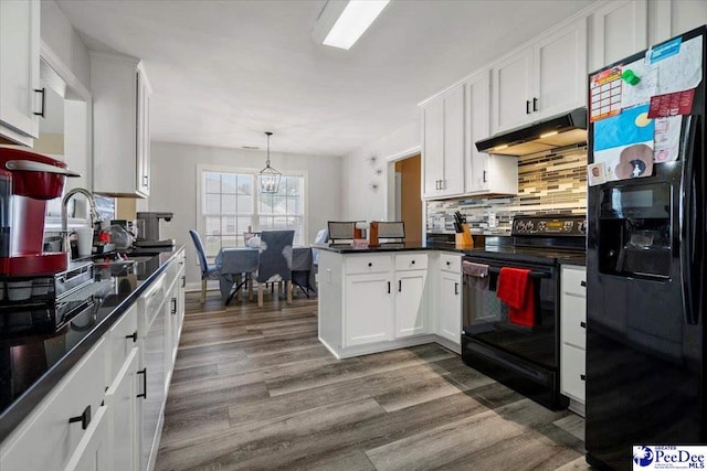
[[[102,265],[97,260],[92,289],[83,290],[85,300],[93,302],[89,309],[57,332],[0,339],[0,441],[137,301],[181,248],[159,250],[158,255],[152,250],[134,263]]]

